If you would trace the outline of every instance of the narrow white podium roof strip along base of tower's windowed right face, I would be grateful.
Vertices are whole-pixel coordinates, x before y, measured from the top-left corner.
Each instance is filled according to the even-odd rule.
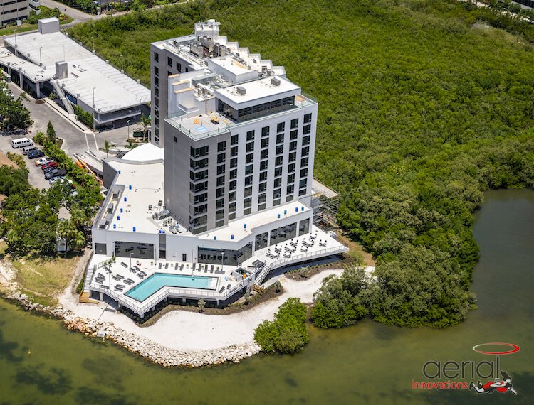
[[[298,212],[296,209],[298,209]],[[286,211],[286,214],[284,214],[284,211]],[[197,234],[197,237],[199,239],[207,240],[213,240],[214,237],[217,237],[218,241],[229,241],[232,240],[231,236],[234,235],[233,240],[239,241],[251,234],[251,230],[256,227],[308,211],[310,211],[310,207],[306,207],[298,201],[293,201],[286,205],[278,205],[269,210],[263,210],[247,215],[246,217],[241,217],[238,220],[230,221],[228,222],[228,225],[225,225],[224,227],[211,229],[210,231]],[[278,218],[278,214],[280,214],[280,218]],[[246,228],[244,227],[245,224]]]

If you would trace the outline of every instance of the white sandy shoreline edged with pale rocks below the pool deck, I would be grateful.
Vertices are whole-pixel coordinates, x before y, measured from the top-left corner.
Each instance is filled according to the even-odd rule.
[[[370,266],[367,271],[372,270]],[[106,303],[79,303],[70,286],[58,297],[55,308],[32,303],[24,294],[4,294],[28,311],[52,315],[63,320],[68,330],[83,333],[88,338],[110,340],[140,357],[162,367],[205,367],[225,362],[240,362],[261,352],[253,342],[253,333],[263,320],[272,320],[287,298],[313,301],[323,279],[339,275],[342,269],[325,269],[309,279],[294,281],[281,276],[283,293],[250,310],[229,315],[207,315],[192,311],[173,310],[157,323],[140,327],[126,315],[108,311]]]

